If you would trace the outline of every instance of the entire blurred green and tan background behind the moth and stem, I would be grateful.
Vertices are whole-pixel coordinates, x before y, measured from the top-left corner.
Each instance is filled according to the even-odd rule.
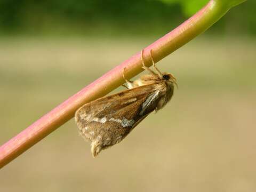
[[[0,1],[0,144],[205,2]],[[92,158],[71,119],[0,171],[1,191],[255,191],[255,5],[158,63],[179,90],[123,142]]]

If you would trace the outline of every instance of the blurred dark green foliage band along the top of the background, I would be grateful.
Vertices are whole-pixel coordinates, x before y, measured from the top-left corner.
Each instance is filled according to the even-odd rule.
[[[1,0],[2,34],[166,33],[208,0]],[[256,1],[235,7],[211,30],[256,34]],[[216,34],[216,33],[215,33]]]

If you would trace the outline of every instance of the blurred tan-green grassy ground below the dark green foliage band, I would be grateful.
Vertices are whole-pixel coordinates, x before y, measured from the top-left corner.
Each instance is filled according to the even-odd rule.
[[[0,143],[152,41],[1,39]],[[123,142],[92,158],[72,119],[0,171],[1,191],[255,191],[255,50],[198,38],[160,62],[179,90]]]

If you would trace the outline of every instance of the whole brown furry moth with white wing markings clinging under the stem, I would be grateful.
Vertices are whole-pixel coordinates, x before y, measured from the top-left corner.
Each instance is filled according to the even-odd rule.
[[[141,51],[142,68],[150,74],[141,76],[132,82],[123,78],[128,90],[109,95],[86,103],[76,111],[75,121],[79,134],[91,141],[93,157],[122,141],[152,111],[163,108],[172,98],[175,77],[170,73],[161,73],[151,60],[156,73],[145,66]]]

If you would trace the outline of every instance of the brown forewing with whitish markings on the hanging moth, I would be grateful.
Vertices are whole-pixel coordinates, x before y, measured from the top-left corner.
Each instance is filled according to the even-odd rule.
[[[157,107],[164,86],[143,85],[86,103],[75,114],[79,134],[92,141],[92,154],[123,140],[128,133]]]

